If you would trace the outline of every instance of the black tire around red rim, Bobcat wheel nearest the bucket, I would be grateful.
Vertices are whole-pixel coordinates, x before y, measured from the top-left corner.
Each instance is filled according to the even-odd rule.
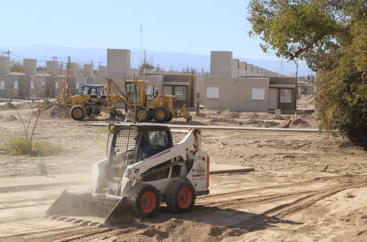
[[[156,205],[153,211],[146,213],[142,210],[141,200],[146,192],[153,192],[156,196]],[[131,211],[135,217],[140,218],[153,218],[157,215],[159,206],[161,204],[161,194],[157,188],[148,184],[137,184],[132,190],[133,197],[131,198]]]

